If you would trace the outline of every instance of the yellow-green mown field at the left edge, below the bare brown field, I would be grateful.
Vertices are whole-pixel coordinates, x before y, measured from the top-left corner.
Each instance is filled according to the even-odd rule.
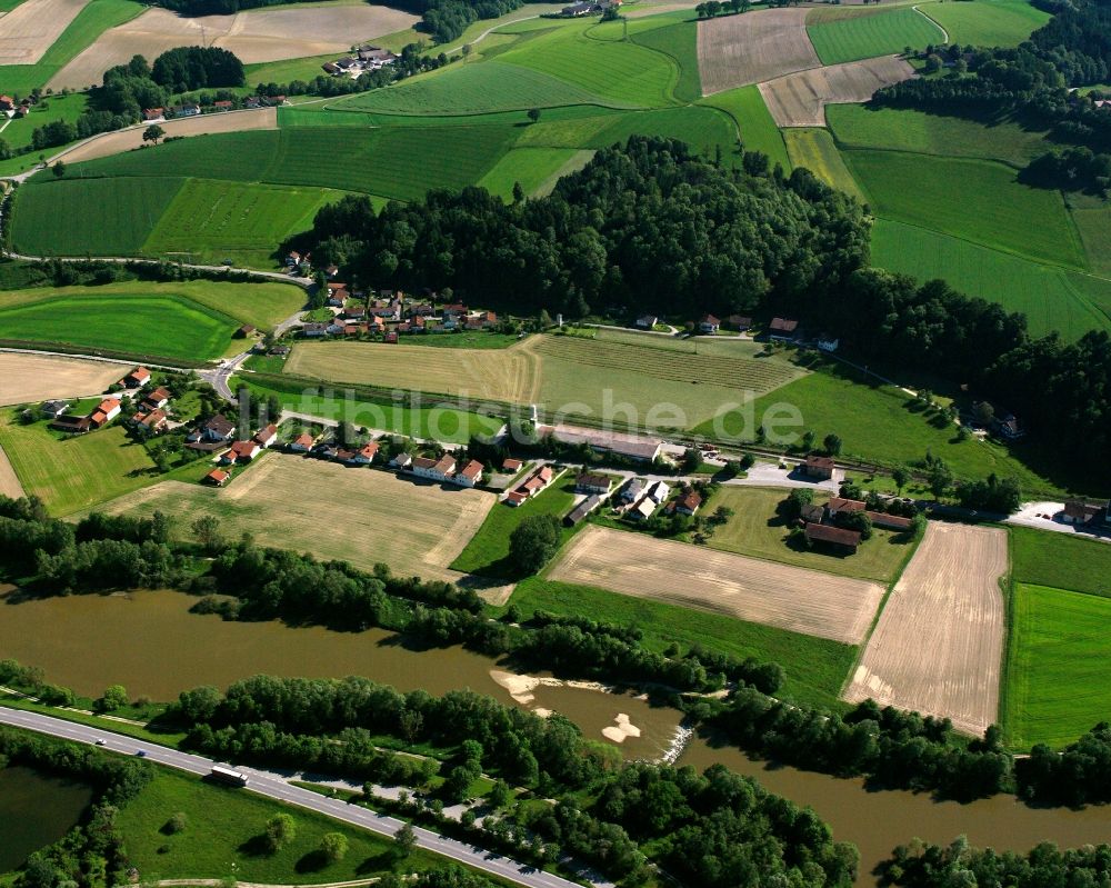
[[[51,515],[69,515],[151,483],[154,463],[119,426],[60,440],[46,422],[22,426],[0,413],[0,447],[28,493]]]

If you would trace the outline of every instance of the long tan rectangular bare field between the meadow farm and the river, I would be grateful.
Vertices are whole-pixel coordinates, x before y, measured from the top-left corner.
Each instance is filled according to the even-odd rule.
[[[601,527],[575,537],[549,578],[848,645],[863,640],[883,598],[877,582]]]

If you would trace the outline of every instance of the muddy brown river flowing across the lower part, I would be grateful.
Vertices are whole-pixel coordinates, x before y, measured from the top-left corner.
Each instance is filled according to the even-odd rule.
[[[354,635],[292,629],[277,622],[224,622],[216,616],[189,613],[194,600],[180,592],[74,596],[19,605],[6,605],[0,598],[0,658],[40,666],[49,681],[84,696],[99,696],[118,682],[132,697],[170,700],[184,688],[224,687],[244,676],[268,672],[361,675],[401,690],[423,688],[439,695],[470,688],[514,702],[506,687],[511,681],[504,667],[462,648],[410,650],[381,630]],[[679,719],[674,710],[654,709],[628,694],[562,682],[512,690],[518,705],[560,711],[588,737],[607,739],[602,734],[607,729],[612,736],[624,734],[620,746],[632,758],[658,757],[671,744]],[[629,727],[615,731],[622,724]],[[640,736],[630,736],[635,730]],[[737,749],[712,748],[700,739],[690,744],[679,764],[702,769],[714,762],[812,807],[839,840],[860,848],[860,886],[873,886],[869,874],[875,864],[894,846],[915,837],[948,842],[963,834],[974,845],[1023,851],[1045,840],[1062,847],[1111,841],[1111,806],[1040,810],[1010,796],[958,805],[911,792],[870,792],[861,780],[794,768],[765,769]]]

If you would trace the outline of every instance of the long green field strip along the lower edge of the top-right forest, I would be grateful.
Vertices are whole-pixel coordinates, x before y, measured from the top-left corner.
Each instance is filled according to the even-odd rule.
[[[974,6],[980,0],[945,6]],[[1041,132],[1008,120],[982,123],[912,109],[830,104],[825,119],[841,148],[878,148],[939,157],[983,158],[1024,167],[1050,146]]]

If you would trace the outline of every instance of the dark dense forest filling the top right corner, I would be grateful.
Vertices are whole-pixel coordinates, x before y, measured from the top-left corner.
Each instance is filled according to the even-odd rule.
[[[1104,84],[1111,72],[1111,3],[1051,0],[1050,21],[1017,48],[953,44],[935,49],[957,67],[947,77],[907,80],[872,99],[877,106],[998,120],[1008,114],[1057,142],[1073,146],[1035,158],[1022,181],[1047,188],[1105,193],[1111,187],[1111,109],[1080,87]],[[963,72],[967,69],[967,72]]]

